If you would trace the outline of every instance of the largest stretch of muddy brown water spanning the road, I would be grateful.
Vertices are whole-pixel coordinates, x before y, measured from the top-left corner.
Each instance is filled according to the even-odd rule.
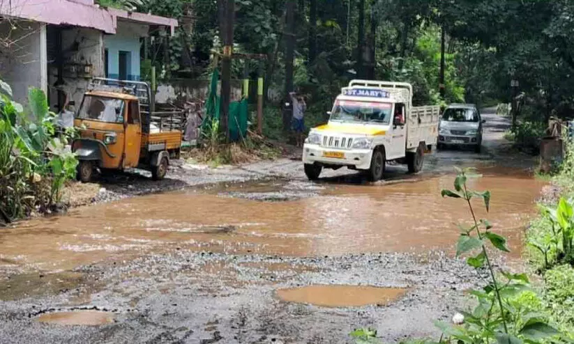
[[[515,254],[544,183],[520,171],[483,169],[469,187],[489,189],[491,211],[478,217],[510,237]],[[0,232],[0,258],[12,265],[58,271],[128,259],[162,249],[196,249],[282,256],[427,251],[450,248],[456,223],[468,221],[460,200],[444,199],[453,175],[386,185],[324,182],[317,196],[264,202],[195,191],[156,194],[24,221]],[[280,191],[275,183],[255,191]],[[315,185],[310,185],[315,187]],[[241,188],[250,191],[249,185]],[[517,253],[518,252],[518,253]]]

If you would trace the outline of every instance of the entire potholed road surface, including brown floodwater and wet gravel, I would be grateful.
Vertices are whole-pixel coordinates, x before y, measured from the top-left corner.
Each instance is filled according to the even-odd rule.
[[[485,152],[435,152],[418,175],[391,165],[384,182],[345,169],[308,182],[300,161],[280,159],[242,166],[259,176],[249,182],[2,228],[0,343],[347,343],[357,327],[385,342],[435,336],[433,321],[483,284],[453,257],[470,219],[440,196],[453,166],[483,174],[468,185],[490,190],[491,210],[475,209],[509,238],[513,261],[544,185],[530,159],[497,153],[508,121],[485,117]]]

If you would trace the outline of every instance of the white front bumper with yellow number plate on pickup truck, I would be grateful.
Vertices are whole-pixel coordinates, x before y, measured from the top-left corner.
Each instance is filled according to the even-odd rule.
[[[325,153],[340,153],[342,157],[326,157]],[[358,170],[368,170],[371,166],[372,150],[354,149],[337,150],[323,148],[319,145],[305,143],[303,146],[304,164],[321,164],[322,166],[352,166]]]

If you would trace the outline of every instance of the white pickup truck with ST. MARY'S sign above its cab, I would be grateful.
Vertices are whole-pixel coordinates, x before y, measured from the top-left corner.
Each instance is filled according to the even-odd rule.
[[[412,94],[411,84],[402,82],[351,81],[336,98],[328,124],[305,139],[305,175],[316,180],[324,168],[347,166],[376,181],[388,161],[421,171],[425,152],[437,143],[440,109],[413,107]]]

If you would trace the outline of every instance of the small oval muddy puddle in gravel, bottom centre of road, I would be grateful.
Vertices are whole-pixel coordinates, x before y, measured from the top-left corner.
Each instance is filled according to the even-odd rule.
[[[286,302],[314,304],[323,307],[384,306],[407,292],[405,288],[379,288],[372,286],[306,286],[277,290],[277,296]]]

